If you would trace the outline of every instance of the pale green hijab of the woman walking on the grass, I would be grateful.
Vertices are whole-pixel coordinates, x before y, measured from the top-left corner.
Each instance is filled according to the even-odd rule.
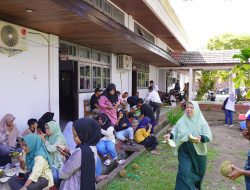
[[[189,118],[185,112],[172,130],[174,141],[176,143],[176,154],[178,153],[178,149],[181,144],[188,141],[189,134],[192,134],[195,137],[204,135],[209,138],[210,142],[213,140],[211,130],[200,110],[199,104],[194,101],[190,101],[188,103],[191,103],[194,107],[193,117]],[[198,144],[194,144],[194,148],[198,155],[207,154],[207,143],[200,142]]]

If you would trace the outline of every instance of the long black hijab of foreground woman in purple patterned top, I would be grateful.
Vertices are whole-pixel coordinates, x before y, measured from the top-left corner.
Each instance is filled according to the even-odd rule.
[[[77,145],[82,152],[80,190],[95,190],[95,157],[89,146],[95,146],[100,141],[101,127],[90,118],[76,120],[73,127],[82,142]]]

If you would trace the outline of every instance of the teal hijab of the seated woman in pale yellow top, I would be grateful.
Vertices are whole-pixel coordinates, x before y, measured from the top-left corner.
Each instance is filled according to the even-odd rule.
[[[48,164],[51,168],[51,160],[41,137],[39,137],[37,134],[29,134],[24,136],[23,140],[29,148],[29,153],[26,154],[27,168],[32,170],[35,164],[34,159],[36,156],[42,156],[48,161]]]

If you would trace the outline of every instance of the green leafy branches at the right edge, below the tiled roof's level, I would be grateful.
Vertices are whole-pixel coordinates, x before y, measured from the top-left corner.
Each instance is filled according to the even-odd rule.
[[[231,70],[231,73],[236,75],[236,77],[233,78],[235,87],[248,88],[246,98],[250,99],[250,48],[241,50],[241,53],[235,54],[233,58],[240,59],[240,64],[235,65]]]

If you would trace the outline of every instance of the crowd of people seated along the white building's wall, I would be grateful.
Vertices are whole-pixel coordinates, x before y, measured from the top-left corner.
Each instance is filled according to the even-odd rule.
[[[132,147],[142,144],[160,154],[154,128],[161,100],[157,85],[150,84],[145,100],[138,92],[130,97],[121,94],[112,83],[104,91],[95,89],[92,118],[70,121],[63,132],[51,112],[29,119],[23,133],[15,117],[6,114],[0,121],[0,166],[11,163],[12,151],[20,153],[19,176],[9,179],[10,188],[95,189],[96,182],[107,177],[102,175],[102,163],[107,167],[125,163],[117,152],[118,141]]]

